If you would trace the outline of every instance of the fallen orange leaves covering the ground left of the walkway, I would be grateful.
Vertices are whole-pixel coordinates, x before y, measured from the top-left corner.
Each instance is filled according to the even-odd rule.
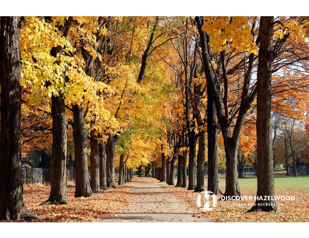
[[[101,221],[106,215],[113,215],[113,211],[120,211],[128,207],[129,200],[133,197],[132,187],[134,182],[118,186],[97,193],[88,198],[74,198],[75,184],[67,186],[67,196],[70,204],[39,206],[49,196],[50,186],[31,184],[23,186],[23,199],[26,207],[39,220],[31,222],[93,222]],[[23,220],[19,220],[23,221]]]

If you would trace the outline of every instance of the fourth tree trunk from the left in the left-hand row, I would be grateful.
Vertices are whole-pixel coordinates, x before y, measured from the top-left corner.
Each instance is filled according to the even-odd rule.
[[[99,142],[94,130],[90,132],[90,187],[94,193],[100,193],[100,154]]]

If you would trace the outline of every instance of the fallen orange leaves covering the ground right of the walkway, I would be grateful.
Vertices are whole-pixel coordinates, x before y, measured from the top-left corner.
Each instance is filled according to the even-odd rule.
[[[206,186],[207,187],[207,186]],[[198,193],[184,188],[165,187],[167,191],[178,196],[188,206],[198,210],[196,197]],[[206,188],[205,188],[206,189]],[[221,191],[224,189],[220,186]],[[256,195],[256,189],[241,189],[242,195]],[[280,201],[278,213],[251,212],[252,206],[235,206],[235,203],[248,204],[255,201],[218,201],[212,211],[200,211],[200,215],[209,218],[212,222],[309,222],[309,190],[308,189],[276,189],[276,195],[293,195],[294,201]],[[220,196],[217,196],[219,199]]]

